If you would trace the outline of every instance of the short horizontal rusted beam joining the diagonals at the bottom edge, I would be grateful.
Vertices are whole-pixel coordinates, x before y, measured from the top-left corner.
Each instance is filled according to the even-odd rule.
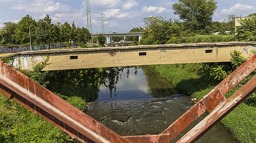
[[[169,143],[169,135],[138,135],[138,136],[123,136],[131,143]]]

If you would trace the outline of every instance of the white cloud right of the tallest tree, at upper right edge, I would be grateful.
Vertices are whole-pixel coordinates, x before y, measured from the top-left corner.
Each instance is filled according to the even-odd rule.
[[[255,11],[256,8],[254,6],[250,6],[247,4],[236,4],[229,9],[223,9],[221,10],[221,15],[228,15],[228,14],[234,14],[234,13],[245,13],[245,12],[250,12],[250,11]]]

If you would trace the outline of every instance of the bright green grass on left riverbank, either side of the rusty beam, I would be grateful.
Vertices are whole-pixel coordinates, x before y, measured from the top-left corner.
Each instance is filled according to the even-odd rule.
[[[85,111],[80,97],[65,97]],[[0,143],[70,143],[71,137],[12,99],[0,94]]]

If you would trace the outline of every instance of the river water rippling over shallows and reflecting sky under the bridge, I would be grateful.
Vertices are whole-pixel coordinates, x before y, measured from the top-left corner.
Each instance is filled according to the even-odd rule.
[[[105,86],[100,86],[99,97],[87,110],[98,120],[119,135],[160,134],[195,103],[191,97],[161,78],[154,69],[143,66],[130,68],[117,82],[113,96]],[[171,142],[177,141],[207,114],[202,115],[188,129]],[[230,133],[220,124],[215,125],[197,142],[199,143],[236,143]]]

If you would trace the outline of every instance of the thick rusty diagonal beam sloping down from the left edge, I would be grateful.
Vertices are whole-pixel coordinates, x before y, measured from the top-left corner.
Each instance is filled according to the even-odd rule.
[[[0,91],[5,96],[13,98],[82,142],[127,142],[97,120],[2,61],[0,61],[0,83]]]

